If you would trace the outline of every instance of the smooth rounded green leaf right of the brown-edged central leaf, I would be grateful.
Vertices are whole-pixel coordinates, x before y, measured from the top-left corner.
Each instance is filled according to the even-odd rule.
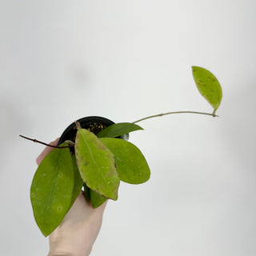
[[[150,178],[150,167],[137,146],[118,138],[101,138],[113,152],[120,179],[131,184],[140,184]]]

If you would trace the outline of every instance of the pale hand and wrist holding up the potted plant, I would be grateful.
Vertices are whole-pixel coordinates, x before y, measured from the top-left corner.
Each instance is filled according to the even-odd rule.
[[[58,138],[50,145],[57,146]],[[52,147],[46,146],[37,158],[38,165]],[[48,256],[88,256],[102,226],[106,202],[96,209],[81,192],[62,223],[49,236]]]

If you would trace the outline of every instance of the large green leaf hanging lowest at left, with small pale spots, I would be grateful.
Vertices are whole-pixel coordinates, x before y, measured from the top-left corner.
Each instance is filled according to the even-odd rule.
[[[70,150],[52,150],[38,166],[30,188],[34,218],[45,236],[57,228],[70,209],[73,187]]]

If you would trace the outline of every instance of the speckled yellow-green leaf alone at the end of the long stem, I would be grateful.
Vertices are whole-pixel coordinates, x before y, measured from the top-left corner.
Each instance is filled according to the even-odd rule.
[[[194,82],[200,94],[202,94],[202,97],[206,98],[215,112],[222,102],[222,87],[218,79],[214,74],[202,67],[192,66],[192,70]]]

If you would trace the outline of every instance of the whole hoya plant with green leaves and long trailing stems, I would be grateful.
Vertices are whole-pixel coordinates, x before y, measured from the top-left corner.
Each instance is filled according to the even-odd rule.
[[[150,178],[150,168],[142,152],[127,141],[127,134],[143,130],[136,123],[167,114],[192,113],[216,116],[222,88],[210,71],[193,66],[194,82],[213,107],[213,113],[194,111],[155,114],[135,122],[74,122],[38,166],[30,188],[34,218],[42,234],[48,236],[62,222],[83,190],[96,208],[106,199],[118,199],[119,183],[141,184]],[[104,118],[103,118],[104,119]],[[68,132],[68,136],[67,135]],[[26,138],[20,135],[23,138]],[[36,139],[30,139],[39,142]],[[40,142],[42,144],[46,144]]]

